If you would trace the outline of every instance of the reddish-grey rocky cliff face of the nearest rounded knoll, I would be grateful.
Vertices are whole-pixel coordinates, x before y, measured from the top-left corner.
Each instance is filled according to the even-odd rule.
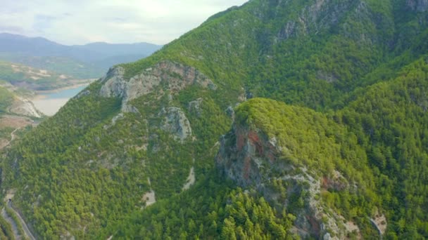
[[[358,234],[356,225],[345,223],[346,220],[325,206],[319,197],[322,190],[349,188],[341,173],[335,171],[333,178],[317,178],[306,168],[285,164],[283,150],[276,138],[235,124],[232,131],[222,137],[215,161],[228,178],[241,187],[257,189],[274,206],[295,208],[293,199],[300,196],[293,231],[302,238],[344,239],[349,232]],[[277,182],[287,187],[278,187]]]

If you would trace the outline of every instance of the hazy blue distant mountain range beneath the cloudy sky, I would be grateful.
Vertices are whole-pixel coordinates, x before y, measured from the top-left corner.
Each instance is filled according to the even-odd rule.
[[[65,46],[42,37],[0,34],[0,60],[68,74],[75,78],[97,78],[108,67],[145,58],[162,46],[147,43]]]

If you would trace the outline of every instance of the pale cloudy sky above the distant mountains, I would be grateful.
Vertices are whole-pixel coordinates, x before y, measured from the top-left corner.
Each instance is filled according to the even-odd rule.
[[[0,32],[60,44],[168,44],[247,0],[0,0]]]

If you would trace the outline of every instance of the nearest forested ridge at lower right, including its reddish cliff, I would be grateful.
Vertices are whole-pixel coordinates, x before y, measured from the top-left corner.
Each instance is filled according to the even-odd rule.
[[[282,223],[287,237],[325,236],[320,227],[301,219],[317,220],[320,214],[325,226],[339,218],[333,221],[337,228],[327,230],[339,239],[377,239],[370,219],[387,239],[427,237],[427,67],[427,57],[421,58],[396,79],[370,86],[344,109],[327,114],[249,100],[237,107],[234,127],[223,138],[216,157],[219,173],[210,173],[187,193],[133,213],[103,236],[222,239],[233,232],[241,239],[278,238],[272,225],[255,222],[275,218],[255,217],[237,194],[241,189],[232,191],[236,187],[225,183],[232,178],[249,190],[245,197],[264,196],[275,206],[276,218],[294,220],[295,227]],[[322,207],[314,208],[314,203]],[[199,229],[180,218],[191,219]],[[261,227],[255,231],[257,224]],[[146,235],[160,226],[170,231]]]

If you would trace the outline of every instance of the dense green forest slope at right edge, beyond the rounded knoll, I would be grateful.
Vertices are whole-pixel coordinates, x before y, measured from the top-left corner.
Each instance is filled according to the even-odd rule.
[[[427,72],[427,58],[421,58],[334,116],[366,149],[391,239],[428,237]]]

